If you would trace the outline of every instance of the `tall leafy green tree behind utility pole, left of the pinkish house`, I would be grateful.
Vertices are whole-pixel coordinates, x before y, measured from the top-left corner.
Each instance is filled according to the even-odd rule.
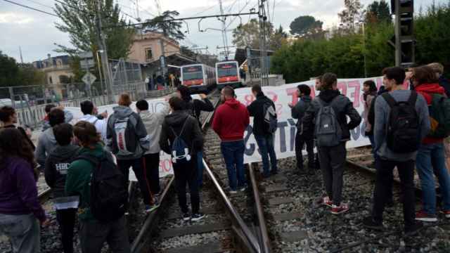
[[[55,13],[62,20],[56,22],[56,28],[67,32],[73,48],[58,46],[59,52],[73,55],[77,51],[98,50],[98,32],[96,29],[96,4],[101,1],[100,15],[103,23],[108,56],[113,59],[127,58],[134,37],[134,29],[120,14],[118,4],[113,0],[61,0],[55,4]]]

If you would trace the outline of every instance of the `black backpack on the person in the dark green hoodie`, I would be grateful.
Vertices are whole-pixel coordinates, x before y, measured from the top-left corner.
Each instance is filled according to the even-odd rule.
[[[86,160],[94,164],[91,174],[91,201],[89,207],[98,221],[116,221],[127,209],[128,192],[125,178],[113,161],[110,153],[103,153],[98,158],[89,153],[82,153],[77,160]]]

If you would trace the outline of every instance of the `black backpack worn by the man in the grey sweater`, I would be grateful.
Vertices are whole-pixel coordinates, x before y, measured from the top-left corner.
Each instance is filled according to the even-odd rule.
[[[390,93],[383,93],[391,108],[387,122],[387,148],[395,153],[411,153],[418,150],[419,119],[416,111],[417,93],[411,91],[408,101],[397,102]]]

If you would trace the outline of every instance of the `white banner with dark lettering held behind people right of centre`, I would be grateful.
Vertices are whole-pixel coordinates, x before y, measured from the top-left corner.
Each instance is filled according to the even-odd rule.
[[[366,80],[373,80],[378,88],[383,84],[382,77],[364,78],[364,79],[338,79],[338,89],[353,102],[354,108],[361,117],[364,112],[363,84]],[[295,84],[285,84],[282,86],[264,86],[262,90],[265,95],[274,101],[278,115],[278,129],[275,133],[275,152],[278,159],[295,156],[295,126],[297,119],[291,117],[291,110],[288,103],[297,103],[297,85],[307,84],[311,88],[311,97],[314,98],[318,93],[314,89],[315,80],[299,82]],[[250,88],[236,89],[237,99],[244,105],[250,105],[255,96],[252,95]],[[252,134],[252,119],[250,126],[244,133],[245,141],[245,163],[261,162],[261,155],[257,148],[255,136]],[[370,141],[364,136],[364,119],[356,129],[350,131],[352,140],[347,142],[347,148],[356,148],[364,145],[370,145]]]

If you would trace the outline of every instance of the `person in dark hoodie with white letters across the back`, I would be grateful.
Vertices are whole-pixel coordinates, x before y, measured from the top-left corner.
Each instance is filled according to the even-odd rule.
[[[53,203],[62,235],[64,253],[72,253],[79,200],[78,197],[67,197],[64,188],[69,166],[78,157],[80,147],[71,144],[73,139],[71,124],[63,123],[53,126],[53,133],[58,145],[47,157],[44,176],[47,185],[53,190]]]

